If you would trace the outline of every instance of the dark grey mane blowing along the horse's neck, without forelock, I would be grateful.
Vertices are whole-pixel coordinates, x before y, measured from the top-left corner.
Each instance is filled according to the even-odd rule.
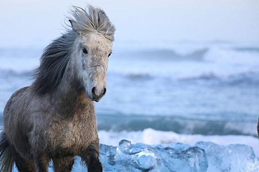
[[[44,49],[40,57],[40,65],[34,74],[35,82],[32,85],[37,93],[53,91],[59,85],[76,36],[74,31],[68,31]]]

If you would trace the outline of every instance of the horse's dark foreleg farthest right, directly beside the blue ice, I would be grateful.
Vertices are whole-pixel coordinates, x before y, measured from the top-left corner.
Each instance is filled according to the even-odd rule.
[[[82,162],[86,163],[87,172],[103,172],[99,160],[99,141],[90,144],[80,155]]]

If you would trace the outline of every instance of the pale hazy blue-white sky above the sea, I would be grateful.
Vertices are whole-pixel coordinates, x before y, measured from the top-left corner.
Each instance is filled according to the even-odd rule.
[[[105,10],[119,42],[259,42],[259,0],[1,0],[0,46],[47,44],[87,3]]]

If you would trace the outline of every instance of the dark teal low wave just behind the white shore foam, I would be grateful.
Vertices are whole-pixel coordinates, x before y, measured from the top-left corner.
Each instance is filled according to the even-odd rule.
[[[209,119],[188,116],[97,115],[98,129],[111,131],[140,131],[153,128],[182,134],[251,135],[257,136],[257,117],[254,119]],[[198,116],[197,116],[198,117]],[[199,116],[201,117],[201,116]],[[206,119],[206,120],[205,120]]]

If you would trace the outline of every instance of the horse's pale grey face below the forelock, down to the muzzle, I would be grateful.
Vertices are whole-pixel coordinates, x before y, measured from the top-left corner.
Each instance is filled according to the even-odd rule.
[[[83,33],[75,45],[76,67],[82,85],[91,100],[98,102],[106,93],[106,71],[111,41],[101,33]]]

